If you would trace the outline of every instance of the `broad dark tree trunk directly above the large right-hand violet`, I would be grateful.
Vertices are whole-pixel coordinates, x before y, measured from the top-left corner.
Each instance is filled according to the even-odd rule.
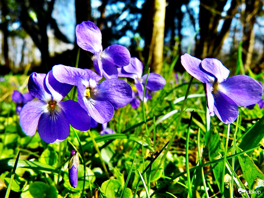
[[[196,43],[195,56],[204,59],[206,57],[217,57],[227,37],[233,16],[237,10],[237,0],[231,1],[231,7],[226,17],[221,13],[227,0],[223,1],[200,1],[199,25],[200,39]],[[217,31],[219,22],[224,19],[220,31]]]

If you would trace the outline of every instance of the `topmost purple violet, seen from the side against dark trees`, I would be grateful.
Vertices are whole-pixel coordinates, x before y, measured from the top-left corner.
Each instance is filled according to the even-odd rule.
[[[92,52],[94,56],[94,69],[99,76],[105,78],[117,78],[116,67],[123,67],[129,64],[130,52],[122,45],[110,45],[103,51],[102,33],[91,21],[83,21],[76,26],[77,44],[82,49]]]

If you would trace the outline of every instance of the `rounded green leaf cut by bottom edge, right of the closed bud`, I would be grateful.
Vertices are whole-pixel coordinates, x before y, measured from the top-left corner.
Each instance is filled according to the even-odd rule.
[[[107,198],[116,198],[121,190],[121,183],[117,179],[108,179],[101,186],[102,192]],[[102,196],[100,195],[102,198]]]

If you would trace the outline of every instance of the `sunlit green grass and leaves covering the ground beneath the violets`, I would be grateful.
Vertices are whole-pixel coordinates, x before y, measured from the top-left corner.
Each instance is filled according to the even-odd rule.
[[[152,100],[141,102],[136,110],[128,104],[115,111],[108,127],[116,134],[100,136],[96,128],[89,133],[71,128],[67,140],[53,144],[43,142],[37,132],[25,136],[19,126],[11,95],[13,90],[27,91],[28,76],[4,76],[1,197],[37,197],[38,189],[51,197],[92,197],[100,192],[100,197],[255,196],[240,195],[238,188],[264,193],[263,109],[239,107],[239,118],[230,126],[208,117],[203,85],[186,72],[176,84],[173,64],[175,60],[164,63],[167,84]],[[241,62],[237,67],[243,72]],[[68,96],[76,100],[76,89]],[[68,178],[72,149],[81,154],[76,189]]]

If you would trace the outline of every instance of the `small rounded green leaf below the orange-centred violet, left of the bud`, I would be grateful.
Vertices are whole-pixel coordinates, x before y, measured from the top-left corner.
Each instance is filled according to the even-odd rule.
[[[56,167],[58,162],[58,155],[52,147],[48,147],[41,154],[39,162]]]

